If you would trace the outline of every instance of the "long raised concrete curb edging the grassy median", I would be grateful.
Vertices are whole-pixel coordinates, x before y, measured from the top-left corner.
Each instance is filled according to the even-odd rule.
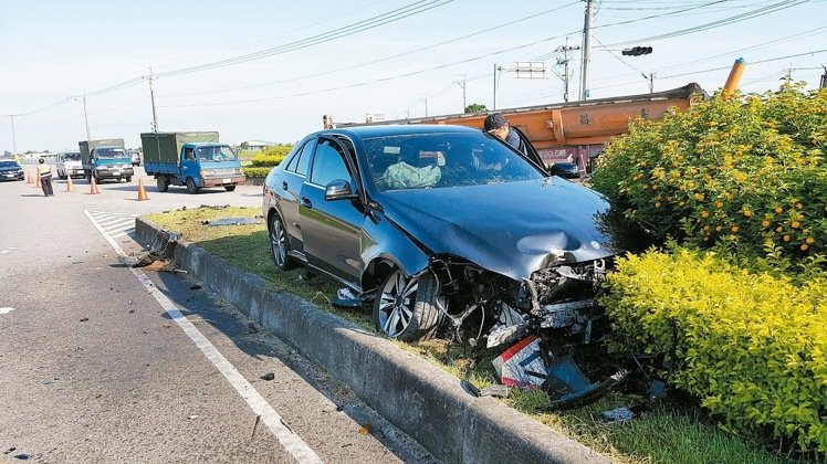
[[[135,230],[143,244],[151,245],[159,228],[138,218]],[[270,289],[263,278],[199,246],[178,242],[175,262],[349,384],[442,462],[610,462],[493,398],[471,397],[458,379],[426,360],[295,295]]]

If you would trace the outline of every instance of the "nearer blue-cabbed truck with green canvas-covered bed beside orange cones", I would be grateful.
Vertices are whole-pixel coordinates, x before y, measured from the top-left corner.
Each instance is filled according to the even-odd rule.
[[[158,191],[184,186],[189,193],[205,187],[231,192],[247,182],[241,160],[217,131],[144,133],[140,135],[144,170],[154,176]]]

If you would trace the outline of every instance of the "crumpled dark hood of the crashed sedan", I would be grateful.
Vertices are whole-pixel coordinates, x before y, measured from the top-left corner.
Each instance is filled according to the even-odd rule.
[[[435,254],[451,254],[515,280],[561,262],[610,256],[599,224],[609,205],[557,178],[383,192],[385,215]]]

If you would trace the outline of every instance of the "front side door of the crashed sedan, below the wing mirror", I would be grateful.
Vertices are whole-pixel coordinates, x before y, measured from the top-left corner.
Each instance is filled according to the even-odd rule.
[[[365,210],[357,198],[325,200],[325,187],[334,180],[348,181],[354,192],[359,189],[346,159],[344,146],[332,138],[320,137],[310,176],[302,186],[300,222],[307,262],[360,288],[359,243]]]

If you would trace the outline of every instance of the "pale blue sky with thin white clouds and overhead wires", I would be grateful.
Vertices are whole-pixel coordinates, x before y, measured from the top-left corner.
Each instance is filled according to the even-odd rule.
[[[791,73],[818,86],[827,1],[595,1],[589,97],[723,86],[743,57],[744,92]],[[335,122],[564,101],[563,80],[515,78],[582,46],[585,1],[0,0],[0,151],[59,151],[86,138],[138,146],[160,130],[218,130],[228,143],[292,143]],[[719,25],[720,24],[720,25]],[[622,49],[652,46],[649,55]],[[580,51],[569,56],[570,99]],[[464,101],[463,101],[464,87]],[[14,130],[12,118],[14,115]],[[12,140],[12,135],[14,136]],[[14,144],[15,141],[15,144]]]

